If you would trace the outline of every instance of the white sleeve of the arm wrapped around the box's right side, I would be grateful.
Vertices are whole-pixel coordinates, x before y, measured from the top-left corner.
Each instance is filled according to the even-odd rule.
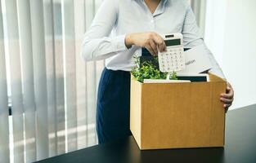
[[[193,48],[195,46],[200,46],[202,44],[205,46],[205,48],[207,48],[206,45],[204,44],[203,38],[200,37],[200,32],[196,24],[195,15],[190,6],[188,6],[186,9],[186,16],[183,24],[182,34],[184,37],[185,48]],[[225,78],[224,74],[222,73],[222,69],[219,67],[211,51],[209,51],[205,55],[208,55],[210,62],[212,64],[212,68],[209,70],[209,73],[213,73],[218,77]]]

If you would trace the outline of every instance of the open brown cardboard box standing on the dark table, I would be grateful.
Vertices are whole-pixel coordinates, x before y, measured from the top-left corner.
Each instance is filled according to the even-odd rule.
[[[144,84],[132,77],[130,128],[140,149],[223,147],[226,81]]]

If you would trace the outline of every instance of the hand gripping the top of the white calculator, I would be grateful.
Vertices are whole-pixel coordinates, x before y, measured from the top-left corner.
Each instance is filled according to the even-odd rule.
[[[127,47],[132,45],[145,47],[153,56],[158,55],[158,51],[166,50],[164,39],[154,32],[128,34],[125,37],[125,45]]]

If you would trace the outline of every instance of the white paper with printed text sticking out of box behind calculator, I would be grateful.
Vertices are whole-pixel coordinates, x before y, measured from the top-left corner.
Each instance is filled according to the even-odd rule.
[[[188,51],[185,51],[186,68],[177,74],[182,73],[202,73],[210,68],[212,65],[207,56],[209,50],[204,45],[195,46]]]

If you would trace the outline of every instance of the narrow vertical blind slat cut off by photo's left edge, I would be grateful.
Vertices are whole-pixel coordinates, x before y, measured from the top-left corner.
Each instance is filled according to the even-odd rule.
[[[10,162],[6,59],[0,1],[0,162]]]

